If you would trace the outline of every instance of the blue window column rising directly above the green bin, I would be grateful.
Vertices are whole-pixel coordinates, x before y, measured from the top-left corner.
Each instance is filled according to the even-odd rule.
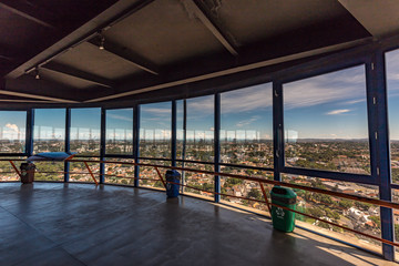
[[[275,181],[282,181],[280,171],[284,167],[283,125],[283,85],[279,82],[273,82],[273,153]]]

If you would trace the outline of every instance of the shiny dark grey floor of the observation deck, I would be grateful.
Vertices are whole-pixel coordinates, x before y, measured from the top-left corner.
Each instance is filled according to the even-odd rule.
[[[209,202],[131,187],[0,184],[0,265],[396,265]]]

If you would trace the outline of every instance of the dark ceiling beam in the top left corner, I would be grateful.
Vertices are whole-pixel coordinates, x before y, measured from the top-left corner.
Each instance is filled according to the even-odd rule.
[[[51,23],[49,23],[48,21],[45,21],[39,17],[39,14],[35,12],[37,8],[23,7],[21,3],[19,3],[16,0],[11,0],[11,1],[3,0],[2,2],[0,2],[0,8],[3,8],[17,16],[20,16],[20,17],[28,19],[40,25],[43,25],[43,27],[47,27],[50,29],[55,29],[54,25],[52,25]]]

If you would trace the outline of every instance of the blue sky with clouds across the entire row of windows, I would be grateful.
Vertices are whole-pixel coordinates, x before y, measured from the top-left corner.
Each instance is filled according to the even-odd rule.
[[[387,53],[390,137],[399,140],[399,51]],[[328,74],[284,84],[285,135],[298,139],[367,139],[365,66],[359,65]],[[272,84],[222,93],[222,140],[270,139]],[[100,109],[72,110],[72,140],[93,139],[100,134]],[[106,112],[108,137],[123,139],[132,134],[132,109]],[[63,137],[63,109],[35,110],[35,124],[41,137]],[[214,96],[187,99],[188,137],[213,137]],[[183,101],[177,101],[177,129],[183,127]],[[1,112],[3,137],[24,137],[24,112]],[[55,127],[55,130],[52,129]],[[79,136],[78,136],[78,130]],[[38,127],[37,127],[38,129]],[[91,129],[91,130],[90,130]],[[113,130],[117,129],[117,130]],[[141,106],[141,137],[164,139],[171,135],[171,102]],[[145,129],[145,131],[144,131]],[[126,133],[127,132],[127,133]],[[35,131],[38,137],[38,131]]]

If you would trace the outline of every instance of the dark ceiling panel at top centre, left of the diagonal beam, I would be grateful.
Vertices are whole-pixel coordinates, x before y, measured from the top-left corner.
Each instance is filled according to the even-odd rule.
[[[161,0],[113,25],[105,38],[131,49],[155,64],[225,52],[224,47],[184,1]]]

